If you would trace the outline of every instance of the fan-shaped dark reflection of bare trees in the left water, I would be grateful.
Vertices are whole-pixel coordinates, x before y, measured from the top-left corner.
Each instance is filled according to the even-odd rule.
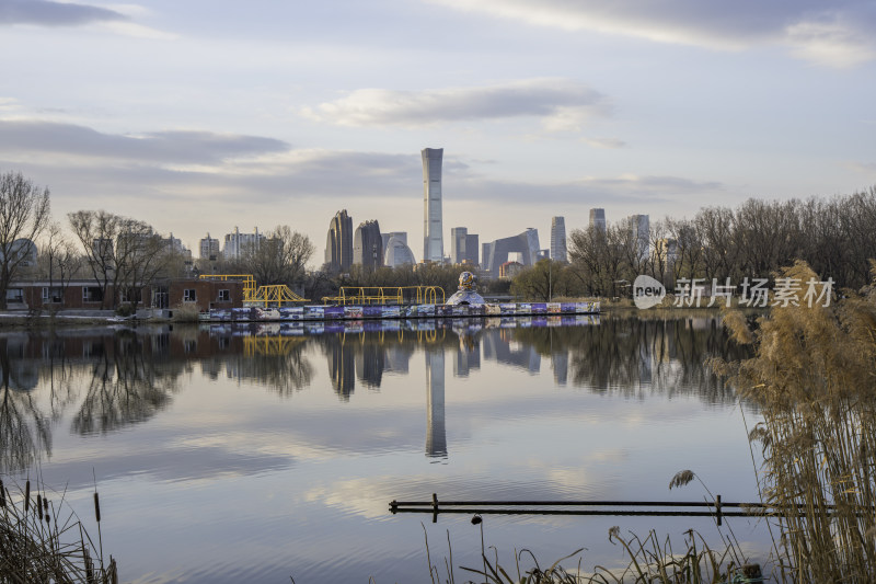
[[[105,344],[89,348],[97,358],[72,423],[79,434],[110,432],[152,417],[169,405],[184,369],[184,362],[154,358],[136,334],[102,341]]]

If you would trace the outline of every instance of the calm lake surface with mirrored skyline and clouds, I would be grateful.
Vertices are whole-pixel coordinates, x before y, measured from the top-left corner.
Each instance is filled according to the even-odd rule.
[[[0,471],[41,472],[125,582],[428,580],[480,565],[470,515],[391,515],[393,499],[756,501],[757,413],[704,367],[739,358],[717,319],[385,321],[0,335]],[[679,543],[710,519],[487,516],[487,546],[542,563],[587,548],[620,565],[618,525]],[[762,525],[731,522],[761,556]],[[424,533],[425,530],[425,533]],[[726,531],[725,531],[726,534]],[[457,569],[457,581],[469,574]]]

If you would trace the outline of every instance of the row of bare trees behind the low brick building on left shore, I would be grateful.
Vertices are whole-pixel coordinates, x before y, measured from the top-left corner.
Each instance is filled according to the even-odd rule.
[[[0,309],[7,308],[10,283],[23,275],[46,278],[49,294],[59,300],[73,278],[90,278],[100,290],[95,300],[101,308],[124,301],[134,310],[157,282],[204,272],[253,274],[260,284],[300,288],[315,250],[307,236],[278,226],[237,259],[196,266],[182,245],[146,221],[105,210],[78,210],[67,219],[72,238],[51,220],[48,188],[21,173],[0,174]],[[39,250],[35,265],[33,242]]]

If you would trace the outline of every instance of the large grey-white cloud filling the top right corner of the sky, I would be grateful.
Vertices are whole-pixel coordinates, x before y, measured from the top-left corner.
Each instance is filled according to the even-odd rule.
[[[718,50],[779,45],[798,58],[833,67],[876,58],[876,8],[872,2],[855,0],[433,1],[569,32],[616,34]]]

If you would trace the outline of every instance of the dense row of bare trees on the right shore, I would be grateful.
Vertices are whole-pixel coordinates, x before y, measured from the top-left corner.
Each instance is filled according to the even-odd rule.
[[[647,238],[647,253],[642,253]],[[584,293],[619,296],[639,274],[671,287],[679,278],[769,278],[805,260],[837,287],[868,283],[876,257],[876,188],[830,199],[749,199],[735,209],[705,207],[692,219],[667,219],[637,234],[629,221],[570,234],[570,270]]]

